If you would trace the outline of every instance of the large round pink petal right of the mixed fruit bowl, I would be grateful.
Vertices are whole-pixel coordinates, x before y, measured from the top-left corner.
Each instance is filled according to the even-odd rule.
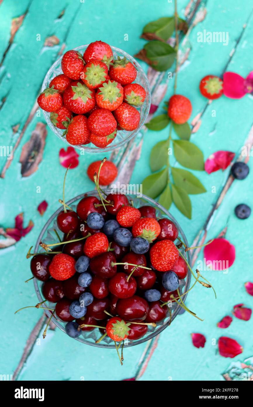
[[[212,270],[226,270],[234,263],[236,248],[227,239],[214,239],[204,247],[206,265]]]

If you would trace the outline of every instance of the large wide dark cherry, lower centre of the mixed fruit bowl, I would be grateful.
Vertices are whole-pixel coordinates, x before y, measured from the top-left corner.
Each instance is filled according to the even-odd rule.
[[[125,321],[141,322],[149,312],[149,304],[144,298],[133,295],[117,301],[116,311]]]

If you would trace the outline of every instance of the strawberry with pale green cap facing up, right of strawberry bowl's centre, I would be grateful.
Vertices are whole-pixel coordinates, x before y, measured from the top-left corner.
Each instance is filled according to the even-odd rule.
[[[99,92],[100,91],[100,92]],[[108,109],[110,112],[117,109],[123,102],[123,88],[113,81],[103,83],[102,87],[96,93],[97,105],[102,109]]]

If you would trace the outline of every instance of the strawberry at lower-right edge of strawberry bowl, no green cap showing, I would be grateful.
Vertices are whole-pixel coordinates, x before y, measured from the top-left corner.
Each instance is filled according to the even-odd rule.
[[[120,127],[124,130],[133,131],[137,129],[140,123],[140,113],[134,106],[128,103],[121,103],[121,105],[114,111],[115,119]]]

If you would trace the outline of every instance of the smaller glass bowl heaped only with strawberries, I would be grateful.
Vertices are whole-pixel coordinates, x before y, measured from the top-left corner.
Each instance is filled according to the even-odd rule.
[[[145,123],[150,101],[138,62],[102,41],[67,51],[46,74],[38,97],[56,136],[90,152],[130,141]]]

